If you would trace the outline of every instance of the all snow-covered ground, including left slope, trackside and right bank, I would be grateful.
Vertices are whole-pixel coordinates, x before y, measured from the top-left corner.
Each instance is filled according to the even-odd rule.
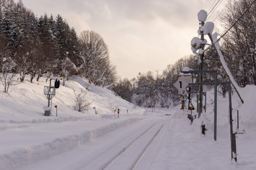
[[[256,169],[255,86],[243,89],[244,104],[235,93],[232,95],[233,129],[237,130],[237,109],[237,131],[244,133],[237,135],[239,155],[235,163],[231,160],[228,97],[217,101],[214,141],[212,91],[207,91],[207,112],[190,125],[189,112],[180,110],[180,106],[152,112],[79,77],[56,90],[52,106],[58,106],[58,116],[54,107],[51,116],[43,116],[48,103],[43,95],[45,85],[49,82],[40,78],[39,83],[25,81],[15,86],[9,95],[0,92],[0,170],[123,170],[135,165],[138,170]],[[92,101],[91,109],[74,111],[73,89],[85,91],[88,85],[86,96]],[[113,111],[118,108],[119,118]],[[201,134],[202,121],[208,129],[206,135]]]

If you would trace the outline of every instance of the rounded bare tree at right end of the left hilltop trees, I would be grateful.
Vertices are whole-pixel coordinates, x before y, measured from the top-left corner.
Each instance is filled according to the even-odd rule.
[[[107,44],[99,34],[89,30],[81,33],[79,41],[79,57],[83,63],[80,67],[83,69],[83,75],[89,83],[106,85],[107,74],[115,73],[115,67],[110,66]]]

